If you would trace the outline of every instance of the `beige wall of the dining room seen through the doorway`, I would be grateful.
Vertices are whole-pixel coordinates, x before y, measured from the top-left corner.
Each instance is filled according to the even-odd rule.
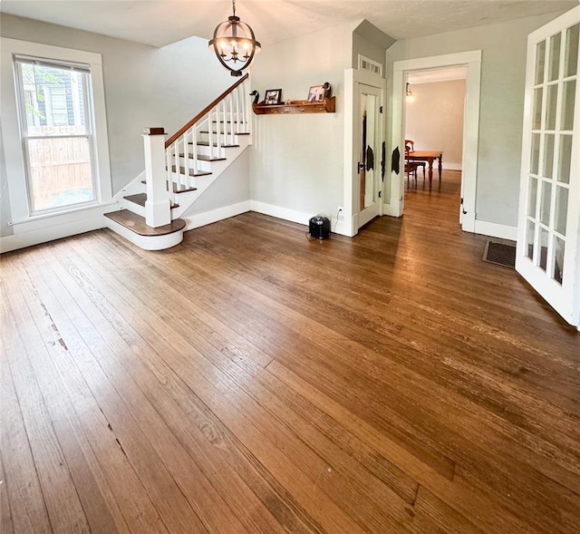
[[[405,139],[415,150],[442,150],[443,167],[460,170],[463,152],[465,80],[413,83],[406,102]]]

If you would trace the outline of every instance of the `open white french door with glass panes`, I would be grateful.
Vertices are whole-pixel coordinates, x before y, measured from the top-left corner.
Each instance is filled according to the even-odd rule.
[[[580,325],[580,6],[528,36],[517,271]]]

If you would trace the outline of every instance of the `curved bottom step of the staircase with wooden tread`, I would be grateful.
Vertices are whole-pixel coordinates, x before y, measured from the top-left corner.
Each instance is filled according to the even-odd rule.
[[[145,219],[129,209],[105,213],[107,227],[143,250],[163,250],[175,247],[183,240],[185,220],[176,218],[169,224],[151,228]]]

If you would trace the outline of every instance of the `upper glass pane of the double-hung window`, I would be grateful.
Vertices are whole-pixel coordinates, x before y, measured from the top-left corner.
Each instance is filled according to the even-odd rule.
[[[31,63],[18,65],[23,83],[27,135],[89,133],[84,99],[87,73]]]

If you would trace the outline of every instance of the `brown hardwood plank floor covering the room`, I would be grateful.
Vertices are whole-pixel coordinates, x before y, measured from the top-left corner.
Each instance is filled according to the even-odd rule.
[[[580,334],[405,200],[5,254],[1,531],[577,532]]]

